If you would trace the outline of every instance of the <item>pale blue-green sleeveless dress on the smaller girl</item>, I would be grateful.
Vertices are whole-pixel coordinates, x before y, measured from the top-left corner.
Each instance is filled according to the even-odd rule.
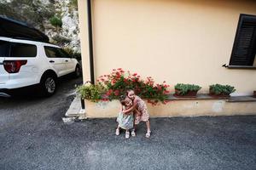
[[[133,121],[134,121],[133,113],[131,112],[129,115],[125,115],[123,112],[119,112],[119,115],[116,121],[119,123],[119,127],[125,130],[131,129],[133,128]]]

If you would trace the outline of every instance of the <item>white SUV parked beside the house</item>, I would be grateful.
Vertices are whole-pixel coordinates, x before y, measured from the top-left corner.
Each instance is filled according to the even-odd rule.
[[[39,85],[46,96],[55,94],[58,77],[80,75],[77,59],[53,44],[0,37],[0,93]]]

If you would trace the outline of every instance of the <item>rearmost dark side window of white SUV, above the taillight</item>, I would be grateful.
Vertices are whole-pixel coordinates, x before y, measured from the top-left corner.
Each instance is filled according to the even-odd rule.
[[[37,46],[27,43],[11,42],[9,57],[36,57]]]

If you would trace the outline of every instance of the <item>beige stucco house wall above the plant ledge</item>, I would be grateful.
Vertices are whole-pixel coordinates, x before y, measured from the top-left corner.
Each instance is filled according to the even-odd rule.
[[[256,89],[256,70],[222,67],[229,64],[239,14],[256,14],[253,1],[92,0],[92,11],[96,77],[122,67],[166,80],[172,89],[177,82],[199,84],[201,93],[212,83],[233,85],[236,94]],[[86,14],[79,0],[85,69]]]

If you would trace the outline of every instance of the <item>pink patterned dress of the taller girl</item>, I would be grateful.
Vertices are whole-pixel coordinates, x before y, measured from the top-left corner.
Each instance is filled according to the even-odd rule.
[[[137,100],[137,105],[136,105],[137,110],[142,113],[141,116],[135,114],[135,124],[138,124],[141,121],[147,122],[149,120],[147,105],[145,104],[143,99],[141,99],[137,95],[135,96],[134,100]]]

